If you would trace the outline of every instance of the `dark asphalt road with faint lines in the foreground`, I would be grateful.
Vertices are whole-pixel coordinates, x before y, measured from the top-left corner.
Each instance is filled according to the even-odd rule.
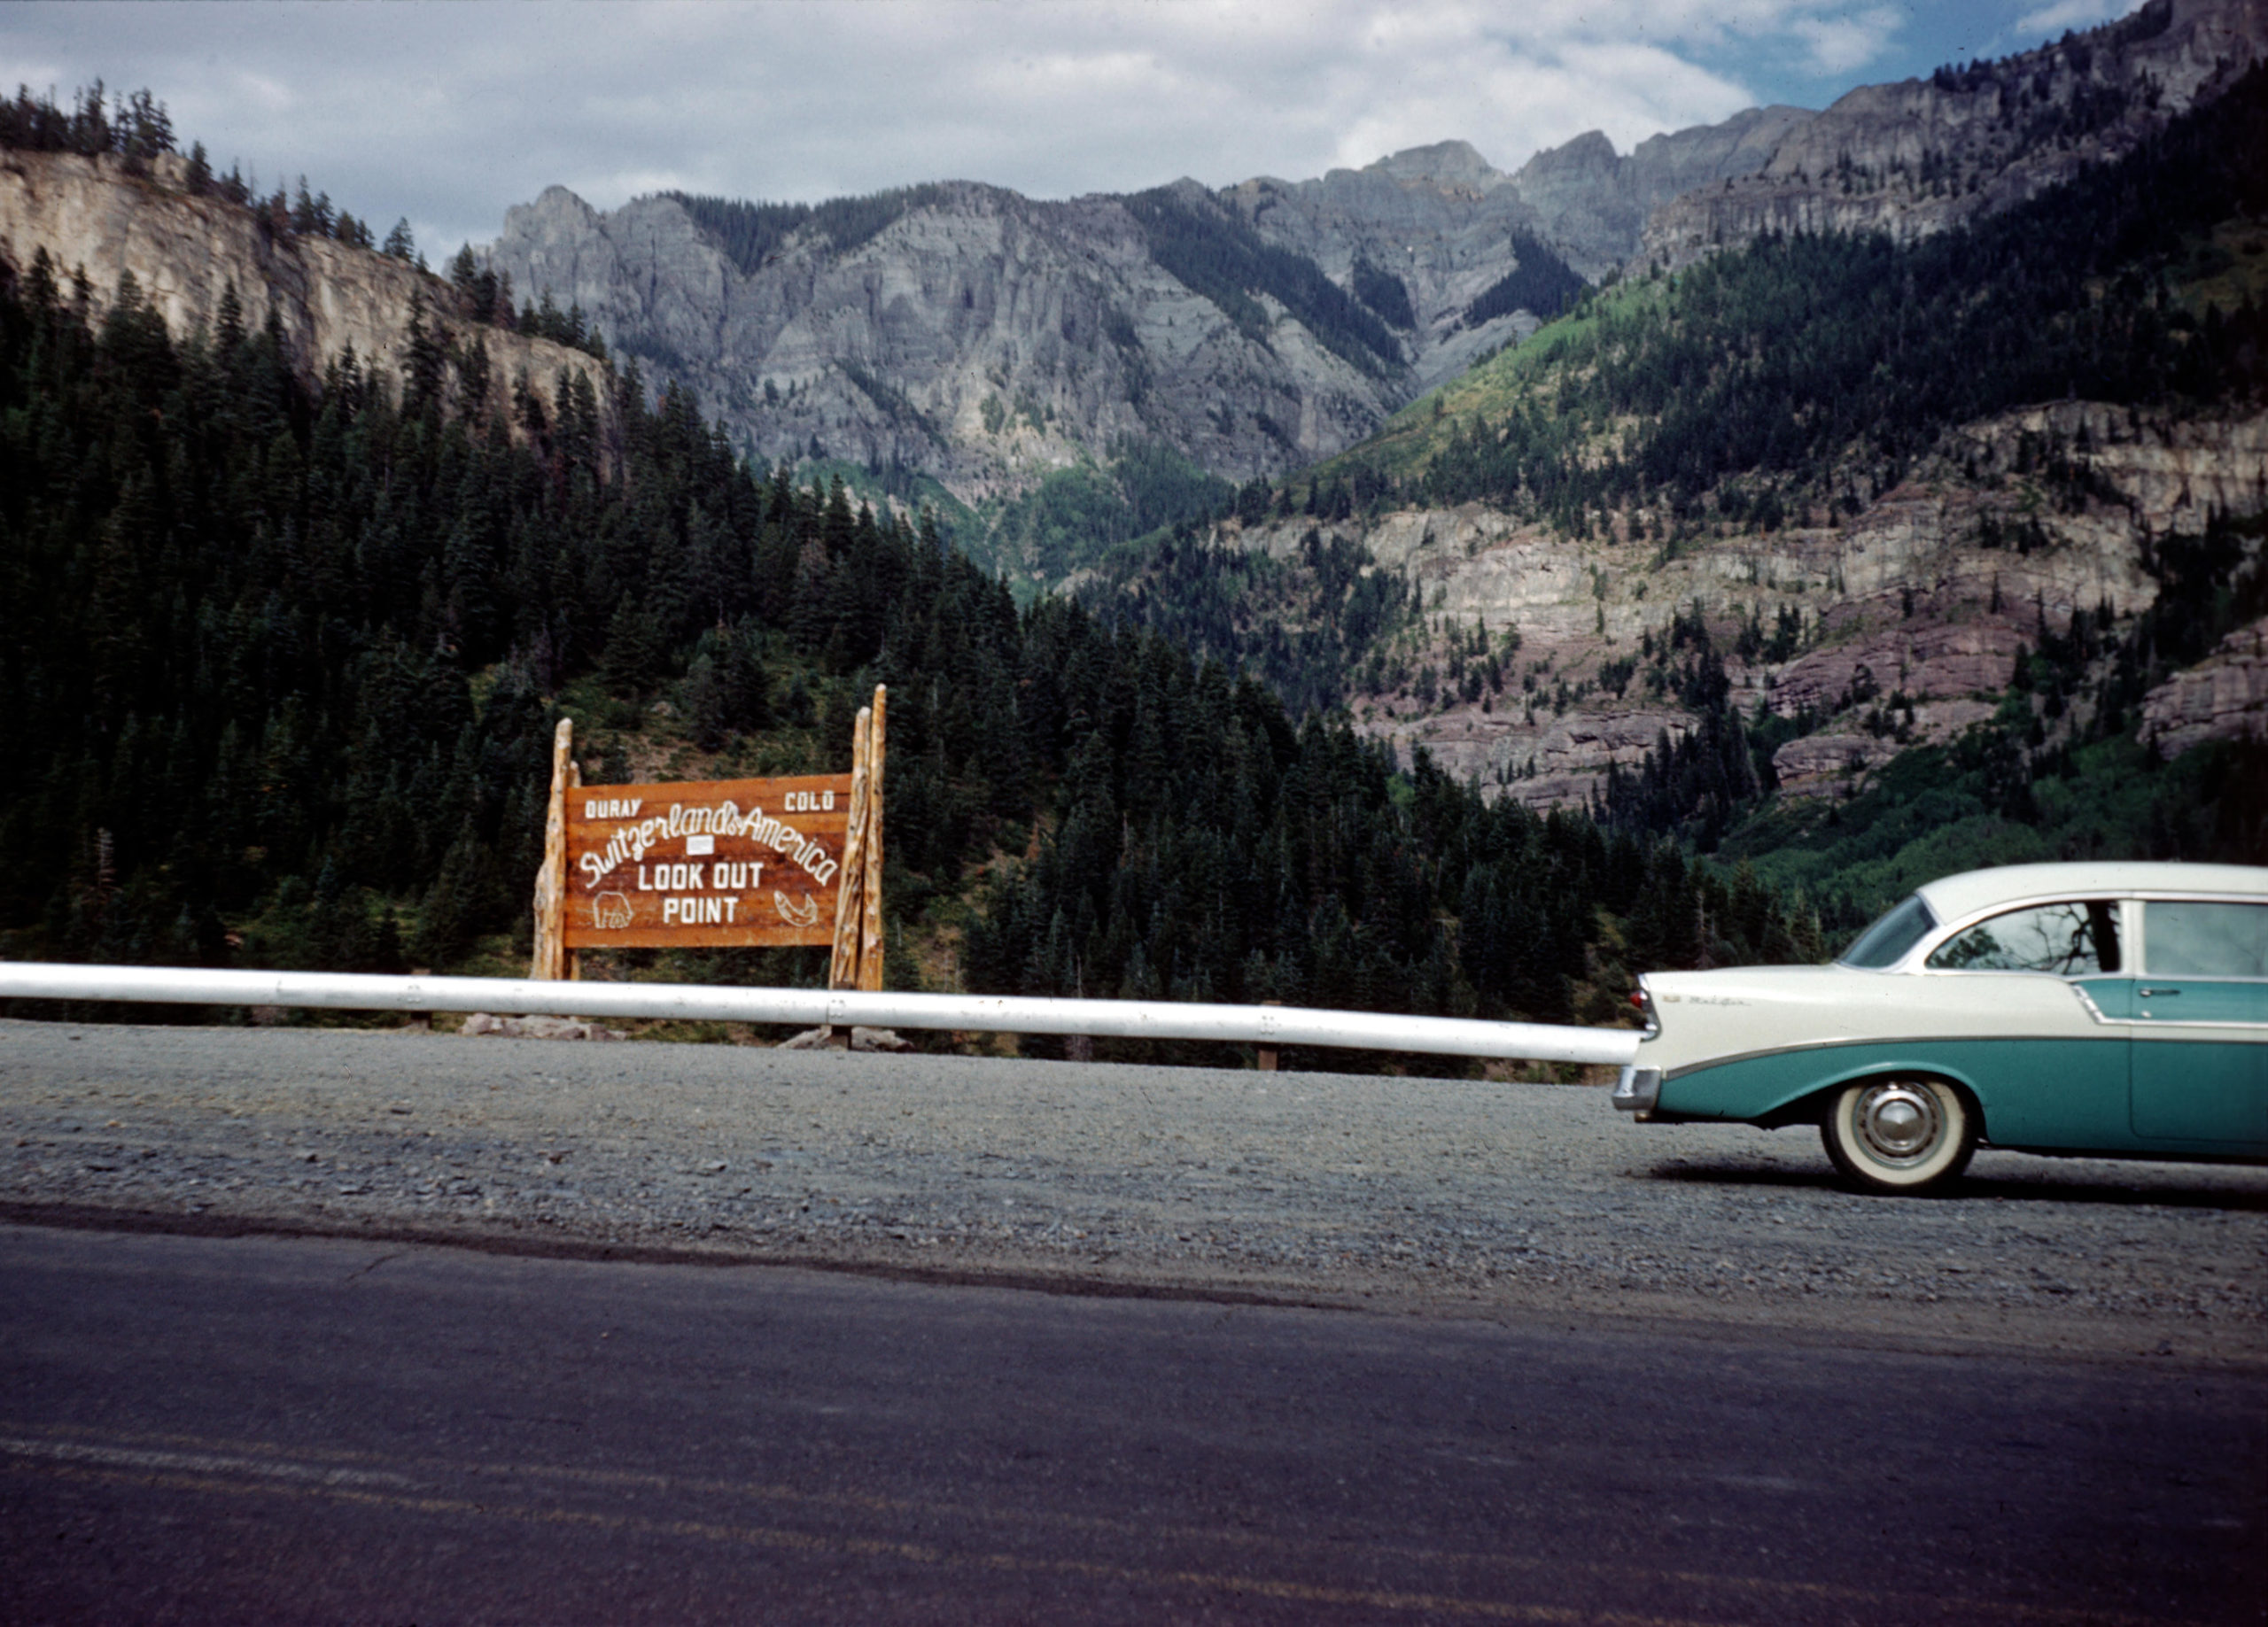
[[[0,1226],[0,1618],[2257,1622],[2254,1366]]]

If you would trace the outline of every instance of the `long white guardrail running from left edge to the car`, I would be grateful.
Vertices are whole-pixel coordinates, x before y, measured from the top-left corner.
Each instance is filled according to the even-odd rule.
[[[894,995],[887,990],[712,983],[553,983],[522,977],[365,977],[361,972],[204,972],[175,965],[52,965],[36,961],[0,961],[0,999],[138,999],[175,1006],[494,1011],[547,1017],[1086,1033],[1111,1040],[1329,1045],[1359,1051],[1427,1051],[1533,1063],[1626,1065],[1637,1058],[1637,1033],[1631,1029],[1397,1017],[1374,1011],[1315,1011],[1306,1006],[1198,1006],[1173,999]]]

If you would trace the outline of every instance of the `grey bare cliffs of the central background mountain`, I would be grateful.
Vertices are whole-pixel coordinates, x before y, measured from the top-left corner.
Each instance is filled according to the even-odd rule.
[[[528,295],[581,304],[615,349],[692,385],[764,460],[898,462],[975,501],[1141,437],[1243,480],[1352,446],[1533,331],[1526,310],[1467,320],[1517,265],[1515,231],[1597,276],[1637,245],[1647,208],[1760,165],[1803,118],[1749,111],[1628,156],[1592,134],[1517,174],[1452,140],[1315,181],[1166,188],[1188,218],[1250,229],[1356,304],[1397,281],[1406,313],[1383,299],[1381,365],[1334,349],[1266,288],[1263,320],[1238,322],[1159,263],[1120,197],[1034,202],[953,181],[864,240],[844,247],[810,224],[739,265],[676,199],[601,213],[549,188],[508,211],[485,261]]]

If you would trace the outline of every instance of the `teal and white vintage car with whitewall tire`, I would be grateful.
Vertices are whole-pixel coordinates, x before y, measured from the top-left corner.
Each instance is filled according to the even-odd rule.
[[[1649,972],[1615,1106],[1817,1124],[1860,1187],[1978,1142],[2268,1158],[2268,868],[2021,863],[1930,881],[1833,965]]]

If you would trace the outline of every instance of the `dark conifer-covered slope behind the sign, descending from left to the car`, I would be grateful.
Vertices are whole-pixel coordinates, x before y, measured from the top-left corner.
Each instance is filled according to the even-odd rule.
[[[1817,949],[1669,843],[1018,612],[925,519],[737,462],[635,367],[617,444],[583,394],[447,410],[472,363],[438,322],[415,358],[311,385],[227,313],[175,335],[132,281],[95,317],[43,258],[0,276],[14,954],[465,965],[524,936],[556,716],[592,780],[810,770],[873,682],[896,981],[959,938],[971,988],[1599,1017],[1637,965]]]

